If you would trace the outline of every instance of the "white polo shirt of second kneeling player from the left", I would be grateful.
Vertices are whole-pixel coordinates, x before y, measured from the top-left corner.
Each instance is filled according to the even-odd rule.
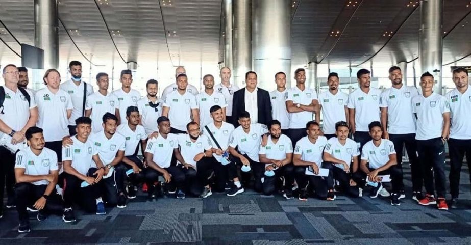
[[[90,168],[96,168],[93,156],[98,154],[98,149],[90,138],[85,143],[79,141],[76,136],[72,136],[70,139],[73,144],[62,147],[62,161],[72,161],[73,169],[87,175]]]

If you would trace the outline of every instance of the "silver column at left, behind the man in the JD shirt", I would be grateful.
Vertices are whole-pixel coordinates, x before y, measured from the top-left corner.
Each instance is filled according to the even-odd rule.
[[[44,69],[59,67],[59,18],[56,0],[34,0],[34,45],[44,50]]]

